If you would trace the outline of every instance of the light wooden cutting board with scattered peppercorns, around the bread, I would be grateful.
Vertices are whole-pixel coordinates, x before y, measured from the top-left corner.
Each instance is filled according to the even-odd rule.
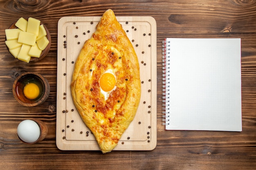
[[[56,144],[60,150],[99,150],[74,106],[70,83],[76,57],[101,17],[63,17],[58,21]],[[117,17],[137,53],[141,99],[134,120],[114,150],[153,150],[157,144],[157,39],[152,17]]]

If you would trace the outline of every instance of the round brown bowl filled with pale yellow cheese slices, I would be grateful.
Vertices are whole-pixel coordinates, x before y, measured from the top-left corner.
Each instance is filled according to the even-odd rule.
[[[44,24],[35,18],[19,18],[5,29],[7,50],[23,62],[42,60],[51,47],[51,35]]]

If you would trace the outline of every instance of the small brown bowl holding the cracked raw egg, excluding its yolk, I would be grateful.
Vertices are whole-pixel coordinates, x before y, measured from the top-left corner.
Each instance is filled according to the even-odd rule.
[[[34,83],[39,88],[39,95],[35,99],[28,99],[24,95],[24,87],[29,83]],[[23,106],[32,107],[45,102],[45,100],[49,97],[50,86],[47,79],[45,79],[43,75],[34,72],[26,72],[22,73],[16,78],[13,83],[12,92],[13,96],[20,104]]]

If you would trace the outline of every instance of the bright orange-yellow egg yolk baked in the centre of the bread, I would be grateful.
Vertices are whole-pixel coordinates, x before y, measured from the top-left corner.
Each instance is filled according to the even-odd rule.
[[[111,73],[104,73],[99,79],[99,85],[103,91],[111,91],[116,84],[116,78]]]

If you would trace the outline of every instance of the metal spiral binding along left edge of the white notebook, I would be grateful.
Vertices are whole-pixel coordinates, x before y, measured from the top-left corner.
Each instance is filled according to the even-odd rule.
[[[169,91],[169,84],[170,84],[170,82],[169,82],[169,80],[170,80],[170,78],[169,78],[169,76],[170,76],[170,71],[169,71],[169,68],[170,68],[170,56],[169,56],[169,54],[170,54],[170,44],[168,44],[168,43],[170,43],[169,41],[163,41],[162,42],[163,43],[163,45],[162,45],[162,47],[163,47],[163,52],[162,52],[162,54],[163,54],[163,59],[162,59],[162,73],[163,73],[163,77],[162,77],[162,80],[163,80],[163,85],[162,85],[162,91],[163,91],[163,93],[162,93],[162,99],[163,99],[163,103],[162,103],[162,121],[163,121],[163,125],[168,125],[169,124],[169,121],[170,121],[170,110],[169,110],[169,108],[168,108],[168,106],[170,106],[170,104],[169,104],[169,95],[170,95],[170,93],[168,93],[168,91]]]

